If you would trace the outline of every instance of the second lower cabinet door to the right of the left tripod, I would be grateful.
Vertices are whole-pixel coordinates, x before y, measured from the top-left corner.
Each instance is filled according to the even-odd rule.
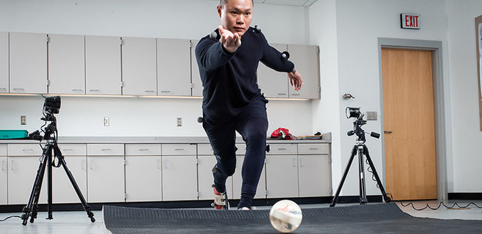
[[[128,202],[161,201],[159,156],[125,156],[125,199]]]

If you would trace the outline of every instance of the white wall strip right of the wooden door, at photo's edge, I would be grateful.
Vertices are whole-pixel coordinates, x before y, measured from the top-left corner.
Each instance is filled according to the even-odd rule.
[[[453,191],[482,192],[477,46],[474,18],[482,1],[448,0],[448,64],[452,100]]]

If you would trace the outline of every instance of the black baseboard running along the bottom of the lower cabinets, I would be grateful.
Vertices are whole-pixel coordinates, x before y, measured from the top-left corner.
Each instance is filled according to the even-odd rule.
[[[381,203],[383,202],[382,196],[367,196],[368,203]],[[310,198],[262,198],[254,199],[254,206],[268,206],[274,205],[278,200],[289,199],[293,200],[299,205],[306,204],[323,204],[331,203],[333,196],[320,196]],[[231,207],[236,207],[239,203],[239,199],[229,200]],[[339,196],[338,203],[359,203],[359,196]],[[104,205],[115,205],[123,207],[142,207],[142,208],[206,208],[210,207],[213,200],[180,200],[180,201],[163,201],[163,202],[145,202],[145,203],[88,203],[93,211],[100,211]],[[25,205],[0,205],[0,213],[14,213],[22,212]],[[52,211],[83,211],[84,208],[80,203],[71,204],[53,204]],[[47,204],[38,205],[38,211],[47,211]]]

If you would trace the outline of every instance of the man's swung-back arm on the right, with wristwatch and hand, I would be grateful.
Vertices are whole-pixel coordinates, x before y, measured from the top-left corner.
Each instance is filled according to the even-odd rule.
[[[291,86],[297,91],[300,90],[303,81],[300,72],[295,68],[295,64],[289,60],[282,59],[280,51],[271,47],[263,34],[261,34],[261,40],[261,46],[263,47],[263,57],[261,57],[261,62],[269,68],[287,73]]]

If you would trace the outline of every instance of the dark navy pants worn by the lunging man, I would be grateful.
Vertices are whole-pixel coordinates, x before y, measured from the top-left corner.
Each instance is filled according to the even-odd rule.
[[[263,171],[268,128],[266,103],[263,97],[255,97],[238,116],[221,124],[213,121],[209,116],[204,116],[203,127],[217,159],[217,164],[213,168],[213,177],[218,192],[226,191],[226,179],[234,174],[236,169],[235,131],[241,134],[246,142],[246,154],[241,169],[243,185],[238,207],[251,208]]]

